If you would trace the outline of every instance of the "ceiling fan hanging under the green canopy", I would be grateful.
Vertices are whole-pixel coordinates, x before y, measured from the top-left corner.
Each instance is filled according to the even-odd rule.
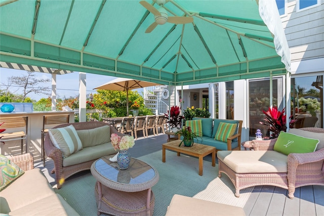
[[[153,22],[146,29],[145,33],[150,33],[157,25],[163,25],[166,22],[174,23],[174,24],[186,24],[193,22],[192,17],[169,17],[167,10],[163,8],[163,5],[166,3],[166,0],[156,0],[156,4],[160,6],[160,8],[156,9],[151,4],[145,1],[141,1],[140,4],[146,8],[149,12],[154,15],[155,22]]]

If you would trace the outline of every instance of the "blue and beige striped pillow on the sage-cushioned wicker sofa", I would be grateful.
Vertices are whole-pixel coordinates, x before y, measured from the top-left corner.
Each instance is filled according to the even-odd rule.
[[[73,125],[49,129],[49,135],[55,147],[62,151],[63,157],[68,157],[83,148]]]

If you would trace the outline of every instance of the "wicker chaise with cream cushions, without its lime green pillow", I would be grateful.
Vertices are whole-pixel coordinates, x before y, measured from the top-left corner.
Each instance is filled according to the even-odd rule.
[[[288,156],[273,151],[277,140],[252,141],[254,151],[219,151],[219,174],[226,174],[239,190],[258,185],[272,185],[289,191],[294,198],[297,187],[306,185],[324,186],[324,129],[315,127],[293,128],[295,135],[318,139],[314,152],[291,153]]]

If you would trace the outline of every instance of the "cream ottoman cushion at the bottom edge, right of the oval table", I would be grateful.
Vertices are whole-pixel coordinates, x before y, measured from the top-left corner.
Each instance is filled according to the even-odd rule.
[[[243,208],[175,194],[166,216],[245,215]]]

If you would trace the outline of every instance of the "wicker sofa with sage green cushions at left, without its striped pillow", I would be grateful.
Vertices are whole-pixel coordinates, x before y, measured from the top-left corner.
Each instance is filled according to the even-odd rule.
[[[83,145],[82,150],[79,150],[68,157],[62,157],[62,151],[52,143],[50,135],[47,134],[45,137],[44,148],[47,156],[54,160],[54,169],[52,170],[52,173],[55,172],[58,189],[62,186],[60,184],[62,179],[65,180],[79,171],[90,169],[95,160],[116,153],[110,143],[111,134],[115,133],[119,136],[127,136],[119,133],[111,125],[101,121],[66,123],[53,128],[62,128],[69,125],[73,125],[76,129],[77,135]],[[109,127],[108,130],[105,130],[105,134],[102,133],[101,128],[103,126]],[[102,140],[104,140],[104,142]]]

